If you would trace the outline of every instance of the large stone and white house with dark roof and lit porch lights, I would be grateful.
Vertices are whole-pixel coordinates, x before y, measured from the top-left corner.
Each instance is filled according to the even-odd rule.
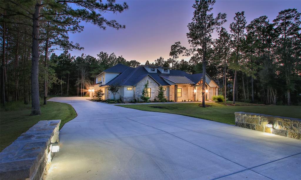
[[[182,70],[171,70],[169,67],[140,65],[136,68],[117,64],[95,76],[95,85],[89,87],[90,97],[94,91],[102,89],[104,99],[113,99],[108,90],[110,85],[118,85],[116,98],[124,102],[140,99],[144,85],[149,86],[150,100],[157,97],[159,86],[163,86],[168,101],[202,100],[202,73],[188,74]],[[206,74],[206,99],[218,94],[219,86]]]

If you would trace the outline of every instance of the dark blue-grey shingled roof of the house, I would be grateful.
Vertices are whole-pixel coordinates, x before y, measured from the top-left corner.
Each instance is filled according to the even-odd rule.
[[[161,67],[164,68],[164,67]],[[141,81],[144,77],[150,76],[154,81],[156,81],[159,85],[171,85],[168,82],[174,82],[176,84],[197,84],[202,79],[202,73],[199,74],[188,74],[182,70],[170,70],[169,74],[161,73],[157,71],[157,73],[150,73],[145,68],[144,65],[140,65],[136,68],[128,67],[123,64],[117,64],[104,72],[121,72],[114,79],[107,82],[105,85],[113,85],[117,84],[119,86],[129,85],[135,86],[139,81]]]

